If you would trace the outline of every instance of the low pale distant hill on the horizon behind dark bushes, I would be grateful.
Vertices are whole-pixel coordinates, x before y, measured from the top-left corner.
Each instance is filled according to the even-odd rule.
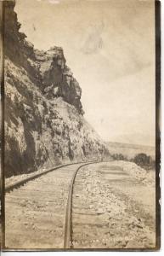
[[[123,154],[127,159],[133,158],[136,154],[148,154],[155,160],[156,148],[144,145],[127,144],[127,143],[106,143],[110,154]]]

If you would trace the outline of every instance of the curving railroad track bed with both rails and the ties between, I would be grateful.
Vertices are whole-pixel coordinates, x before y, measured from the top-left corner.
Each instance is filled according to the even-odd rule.
[[[63,166],[55,166],[54,168],[48,169],[46,171],[42,171],[36,174],[31,174],[30,177],[26,177],[24,179],[21,179],[18,182],[10,183],[5,187],[5,215],[6,215],[6,247],[12,248],[13,245],[17,248],[19,247],[25,247],[24,242],[26,240],[23,238],[24,232],[23,232],[23,224],[25,222],[25,218],[27,214],[25,212],[34,212],[37,213],[35,218],[38,219],[37,222],[39,222],[39,225],[37,226],[38,230],[42,226],[41,221],[41,215],[42,211],[38,211],[36,209],[36,205],[39,204],[39,207],[46,207],[49,204],[53,206],[49,210],[48,207],[46,209],[47,213],[52,211],[54,209],[54,219],[51,219],[53,229],[58,230],[58,227],[55,227],[57,218],[55,217],[55,214],[62,215],[62,222],[63,227],[62,230],[65,230],[64,234],[62,235],[64,244],[62,246],[61,238],[60,238],[60,244],[57,245],[57,247],[64,247],[64,248],[71,248],[71,241],[72,241],[72,194],[73,194],[73,185],[76,179],[76,173],[82,168],[82,166],[88,166],[93,163],[99,163],[99,161],[92,161],[92,162],[78,162],[78,163],[71,163],[71,164],[65,164]],[[71,167],[72,166],[72,167]],[[55,172],[54,172],[55,171]],[[67,178],[68,176],[68,178]],[[64,183],[61,185],[57,183],[57,187],[55,186],[55,180],[64,179]],[[63,181],[62,181],[63,182]],[[22,187],[24,186],[24,187]],[[61,188],[62,187],[62,188]],[[61,190],[64,190],[64,192],[61,192]],[[8,193],[11,192],[12,193]],[[45,191],[45,192],[44,192]],[[52,191],[52,192],[51,192]],[[51,192],[51,194],[50,194]],[[62,194],[64,193],[64,194]],[[42,198],[40,197],[42,195]],[[25,202],[27,201],[27,203]],[[40,201],[40,203],[38,203]],[[49,201],[49,202],[48,202]],[[61,202],[60,202],[61,201]],[[32,204],[31,204],[32,202]],[[67,202],[67,203],[66,203]],[[24,206],[25,204],[25,206]],[[59,205],[59,211],[56,209],[55,205]],[[14,206],[13,206],[14,205]],[[41,210],[42,210],[41,207]],[[14,213],[15,211],[18,211],[18,213]],[[18,210],[19,208],[19,210]],[[12,210],[11,210],[12,209]],[[66,214],[65,214],[66,211]],[[25,215],[26,214],[26,215]],[[33,214],[33,213],[32,213]],[[29,225],[29,233],[32,232],[32,229],[35,227],[32,226],[30,228],[30,218],[32,218],[32,214],[30,213],[29,223],[26,221],[25,223],[25,229],[28,229]],[[48,215],[45,215],[45,218],[47,221],[50,221],[48,218]],[[61,218],[61,217],[60,217]],[[19,219],[19,222],[18,220]],[[65,219],[65,220],[64,220]],[[37,222],[34,222],[36,224]],[[61,222],[61,220],[60,220]],[[61,226],[61,224],[60,224]],[[10,234],[10,230],[17,229],[18,234]],[[30,232],[31,230],[31,232]],[[35,229],[34,229],[35,230]],[[56,231],[57,232],[57,231]],[[61,231],[63,233],[63,231]],[[23,234],[21,239],[24,239],[24,241],[19,241],[20,234]],[[31,235],[31,241],[32,236],[35,237],[35,233]],[[38,232],[38,244],[39,244],[39,232]],[[18,237],[18,245],[15,243],[15,237]],[[57,234],[56,234],[57,237]],[[36,245],[37,245],[36,242]],[[50,243],[50,241],[49,241]],[[24,245],[23,245],[24,244]],[[36,246],[35,245],[35,246]],[[38,246],[38,245],[37,245]],[[43,246],[43,245],[42,245]],[[30,247],[30,242],[29,242]],[[55,247],[55,241],[54,245],[51,241],[51,247]],[[31,247],[30,247],[31,248]],[[33,248],[33,247],[32,247]]]

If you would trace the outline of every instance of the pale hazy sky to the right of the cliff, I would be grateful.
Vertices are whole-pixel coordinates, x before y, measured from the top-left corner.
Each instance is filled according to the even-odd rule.
[[[155,145],[153,0],[16,0],[37,49],[64,49],[84,117],[105,141]]]

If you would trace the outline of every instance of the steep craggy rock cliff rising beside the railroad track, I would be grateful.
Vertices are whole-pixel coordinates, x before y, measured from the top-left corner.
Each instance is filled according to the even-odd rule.
[[[5,1],[5,173],[101,159],[109,152],[83,117],[82,90],[63,49],[34,49]]]

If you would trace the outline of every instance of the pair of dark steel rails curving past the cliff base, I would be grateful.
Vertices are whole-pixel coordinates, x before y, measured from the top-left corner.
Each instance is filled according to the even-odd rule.
[[[10,192],[10,191],[12,191],[12,190],[14,190],[14,192],[13,193],[17,193],[17,191],[20,189],[20,192],[19,192],[19,195],[20,195],[20,197],[18,197],[18,199],[17,199],[17,201],[18,201],[18,203],[20,202],[20,200],[21,200],[21,196],[26,196],[26,194],[24,194],[24,193],[26,193],[25,192],[25,189],[21,189],[20,187],[21,186],[23,186],[25,183],[27,183],[27,185],[28,185],[28,183],[30,182],[30,181],[32,181],[32,180],[34,180],[34,179],[37,179],[38,177],[41,177],[41,176],[45,176],[45,177],[47,177],[47,175],[46,174],[48,174],[48,175],[52,175],[52,174],[50,174],[50,172],[51,173],[54,173],[53,175],[54,175],[54,177],[55,177],[55,172],[54,171],[57,171],[58,173],[59,173],[59,169],[61,169],[61,170],[63,170],[62,168],[63,167],[66,167],[66,166],[68,166],[68,168],[69,168],[69,170],[72,170],[73,172],[72,172],[72,174],[70,173],[69,175],[71,175],[70,177],[71,177],[71,179],[70,179],[70,181],[69,181],[69,183],[68,183],[68,190],[67,190],[67,194],[66,194],[66,197],[65,197],[65,202],[67,201],[67,203],[66,203],[66,209],[65,209],[65,214],[64,214],[64,217],[65,217],[65,223],[63,223],[63,229],[65,230],[65,232],[64,232],[64,237],[63,237],[63,239],[64,239],[64,243],[63,243],[63,247],[65,248],[65,249],[69,249],[69,248],[71,248],[71,247],[73,247],[72,246],[72,195],[73,195],[73,188],[74,188],[74,183],[75,183],[75,180],[76,180],[76,174],[77,174],[77,172],[83,167],[83,166],[88,166],[88,165],[91,165],[91,164],[96,164],[96,163],[100,163],[100,162],[105,162],[105,161],[91,161],[91,162],[78,162],[78,163],[71,163],[71,164],[65,164],[65,165],[63,165],[63,166],[56,166],[56,167],[54,167],[54,168],[51,168],[51,169],[48,169],[48,170],[46,170],[46,171],[42,171],[42,172],[39,172],[39,173],[37,173],[37,174],[33,174],[33,175],[31,175],[30,177],[26,177],[26,178],[24,178],[24,179],[22,179],[21,181],[19,181],[19,182],[15,182],[15,183],[12,183],[12,184],[9,184],[8,186],[6,186],[6,188],[5,188],[5,192],[8,194],[8,192]],[[109,160],[108,161],[106,161],[106,162],[109,162]],[[77,167],[76,167],[76,165],[77,165]],[[71,166],[74,166],[73,167],[73,169],[71,169]],[[65,169],[65,168],[64,168]],[[69,171],[68,171],[69,172]],[[63,175],[63,174],[62,174]],[[36,183],[36,181],[35,181],[35,183]],[[39,182],[40,183],[40,182]],[[25,187],[26,188],[26,187]],[[28,198],[32,198],[32,195],[30,194],[30,193],[36,193],[37,192],[37,190],[36,190],[36,192],[35,192],[35,188],[37,188],[36,187],[36,185],[33,185],[33,188],[34,188],[34,190],[27,190],[27,197]],[[22,192],[23,192],[23,195],[22,195]],[[29,192],[28,192],[29,191]],[[30,192],[31,191],[31,192]],[[33,191],[33,192],[32,192]],[[39,190],[38,190],[39,191]],[[43,191],[44,191],[44,189],[43,189]],[[44,193],[42,191],[42,193]],[[47,191],[45,191],[45,193],[46,193]],[[21,194],[20,194],[21,193]],[[10,195],[10,194],[9,194]],[[11,194],[12,196],[15,196],[15,194],[13,195],[13,194]],[[44,195],[44,194],[42,194],[42,195]],[[55,194],[54,194],[55,195]],[[55,195],[55,197],[57,197],[58,195]],[[53,199],[53,195],[52,195],[52,199]],[[45,201],[46,202],[46,201]],[[43,201],[42,201],[42,203],[43,203]],[[55,204],[55,201],[54,201],[54,204]],[[8,209],[9,209],[9,206],[8,206]],[[8,212],[8,211],[7,211]],[[63,214],[63,213],[62,213]],[[9,215],[8,215],[8,217],[10,217]],[[54,226],[55,226],[55,222],[54,222]],[[54,227],[55,228],[55,227]],[[9,229],[9,227],[8,227],[8,230],[10,230]],[[19,234],[18,234],[18,236],[20,236]],[[52,246],[53,246],[53,244],[52,244]]]

